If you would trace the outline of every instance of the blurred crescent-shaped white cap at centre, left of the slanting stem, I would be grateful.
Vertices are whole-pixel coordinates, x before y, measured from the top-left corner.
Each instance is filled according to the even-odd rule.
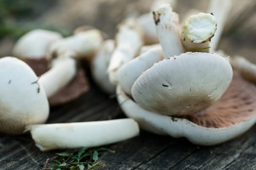
[[[112,85],[109,82],[107,68],[110,61],[110,57],[115,49],[114,40],[106,40],[102,43],[102,47],[98,53],[93,57],[91,62],[91,73],[94,81],[99,85],[106,93],[114,94],[116,91],[116,85]]]

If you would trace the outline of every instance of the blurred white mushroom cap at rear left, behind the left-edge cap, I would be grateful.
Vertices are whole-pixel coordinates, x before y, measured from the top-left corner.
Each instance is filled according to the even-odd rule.
[[[49,43],[61,38],[62,35],[59,33],[36,29],[20,37],[12,53],[17,57],[42,58],[47,53]]]

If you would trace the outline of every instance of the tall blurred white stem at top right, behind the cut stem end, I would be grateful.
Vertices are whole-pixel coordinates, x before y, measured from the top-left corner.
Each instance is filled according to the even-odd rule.
[[[220,5],[221,4],[221,5]],[[211,0],[208,13],[213,14],[217,19],[217,31],[210,42],[210,52],[216,51],[222,36],[225,22],[232,7],[232,0]]]

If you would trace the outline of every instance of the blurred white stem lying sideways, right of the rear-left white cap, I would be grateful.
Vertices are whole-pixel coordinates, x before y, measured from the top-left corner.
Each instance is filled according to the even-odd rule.
[[[53,41],[49,47],[49,57],[59,53],[63,49],[70,49],[77,53],[76,58],[90,58],[100,48],[102,43],[102,35],[99,30],[89,30],[80,32],[63,38],[60,40]]]

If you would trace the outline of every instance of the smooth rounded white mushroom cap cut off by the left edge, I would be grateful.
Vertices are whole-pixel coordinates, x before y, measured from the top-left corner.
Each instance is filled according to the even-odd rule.
[[[34,71],[14,57],[0,59],[0,132],[22,134],[30,124],[44,123],[49,103]]]

